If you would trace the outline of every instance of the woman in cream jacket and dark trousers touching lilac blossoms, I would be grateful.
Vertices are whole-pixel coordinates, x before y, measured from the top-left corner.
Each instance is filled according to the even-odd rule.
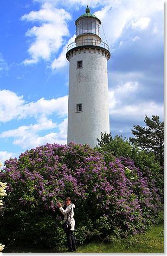
[[[75,245],[75,239],[74,239],[74,234],[73,234],[73,231],[75,230],[75,220],[74,220],[75,205],[72,204],[72,200],[70,197],[66,198],[66,205],[67,205],[66,210],[64,210],[62,208],[61,203],[58,203],[58,205],[59,205],[59,210],[61,211],[61,213],[63,215],[65,215],[63,222],[65,222],[67,220],[67,216],[68,216],[68,221],[70,221],[70,224],[72,225],[72,228],[70,230],[66,231],[68,252],[76,252],[76,245]]]

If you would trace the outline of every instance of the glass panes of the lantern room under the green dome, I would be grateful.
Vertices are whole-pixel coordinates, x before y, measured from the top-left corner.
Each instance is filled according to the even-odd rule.
[[[100,23],[93,18],[82,18],[76,23],[76,36],[82,34],[95,34],[100,36]]]

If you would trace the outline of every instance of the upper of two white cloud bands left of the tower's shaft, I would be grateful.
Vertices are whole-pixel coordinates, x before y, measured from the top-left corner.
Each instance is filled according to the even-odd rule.
[[[68,111],[68,96],[46,100],[41,98],[36,102],[25,103],[23,96],[17,96],[10,90],[0,90],[0,121],[22,119],[27,117],[38,118],[41,114],[53,114],[65,117]]]

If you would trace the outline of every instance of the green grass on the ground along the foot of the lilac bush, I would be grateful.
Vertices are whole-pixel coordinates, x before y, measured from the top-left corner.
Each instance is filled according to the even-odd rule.
[[[115,240],[112,243],[88,243],[79,246],[77,253],[163,253],[164,237],[163,224],[152,227],[144,234],[138,234],[125,239]],[[3,250],[4,253],[63,253],[65,249],[37,249],[37,248],[12,248]]]

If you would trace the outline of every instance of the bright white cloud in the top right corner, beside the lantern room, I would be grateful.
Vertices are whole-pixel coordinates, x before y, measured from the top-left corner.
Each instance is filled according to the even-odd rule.
[[[157,0],[151,1],[149,8],[147,0],[103,1],[102,4],[105,6],[95,15],[101,20],[110,45],[114,44],[123,31],[130,28],[130,25],[136,30],[146,29],[152,16],[163,11],[163,1]],[[102,28],[101,36],[102,40],[105,40]]]

